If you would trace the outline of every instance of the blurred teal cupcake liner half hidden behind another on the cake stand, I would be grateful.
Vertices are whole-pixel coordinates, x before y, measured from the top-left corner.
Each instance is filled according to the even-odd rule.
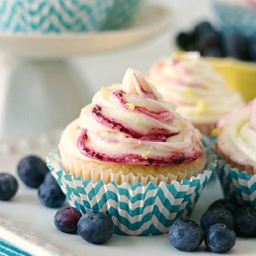
[[[113,30],[126,27],[135,15],[140,4],[141,0],[115,0],[101,30]]]

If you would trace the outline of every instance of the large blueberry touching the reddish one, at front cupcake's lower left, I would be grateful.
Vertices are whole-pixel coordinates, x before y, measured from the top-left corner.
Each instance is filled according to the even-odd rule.
[[[89,243],[105,243],[114,233],[114,223],[104,212],[90,211],[77,224],[78,234]]]

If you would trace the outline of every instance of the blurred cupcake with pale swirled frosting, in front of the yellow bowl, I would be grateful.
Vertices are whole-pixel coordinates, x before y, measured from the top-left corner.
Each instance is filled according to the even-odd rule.
[[[226,87],[222,77],[197,52],[156,62],[148,81],[206,135],[223,115],[243,104],[241,95]]]

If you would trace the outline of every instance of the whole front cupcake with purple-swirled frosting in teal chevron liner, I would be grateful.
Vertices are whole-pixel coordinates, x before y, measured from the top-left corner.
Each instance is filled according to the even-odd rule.
[[[215,168],[201,133],[130,68],[65,128],[59,151],[47,163],[71,204],[107,212],[127,235],[168,232]]]

